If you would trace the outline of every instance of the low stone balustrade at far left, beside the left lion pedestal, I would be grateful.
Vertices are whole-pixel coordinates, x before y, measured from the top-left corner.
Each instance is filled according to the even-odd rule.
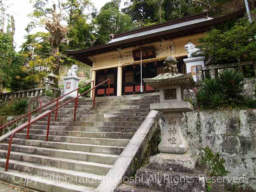
[[[2,101],[9,101],[13,99],[23,99],[23,98],[28,98],[28,97],[39,97],[39,96],[44,96],[44,90],[46,88],[35,88],[35,89],[28,89],[28,90],[20,90],[20,91],[15,91],[15,92],[10,92],[10,93],[2,93],[0,94],[0,100]],[[61,90],[57,88],[50,88],[53,92],[53,96],[57,97],[61,95]]]

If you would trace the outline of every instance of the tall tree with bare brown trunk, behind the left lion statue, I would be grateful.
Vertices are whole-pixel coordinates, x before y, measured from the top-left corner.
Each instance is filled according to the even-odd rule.
[[[44,56],[40,56],[42,59],[47,59],[44,63],[52,61],[49,68],[58,76],[60,65],[69,61],[62,53],[65,49],[87,48],[92,44],[90,40],[93,39],[93,35],[91,35],[90,26],[86,23],[88,17],[84,15],[84,10],[91,5],[90,1],[58,1],[57,5],[53,4],[52,7],[47,0],[32,0],[32,3],[34,11],[30,17],[33,17],[36,22],[30,23],[27,31],[30,32],[37,25],[47,29],[48,36],[42,41],[49,41],[50,51],[48,49],[48,53],[45,52]]]

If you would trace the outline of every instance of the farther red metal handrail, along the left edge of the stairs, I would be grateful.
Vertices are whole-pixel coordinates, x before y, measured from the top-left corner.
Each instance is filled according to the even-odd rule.
[[[90,82],[88,82],[87,84],[90,84],[90,83],[92,83],[92,82],[94,83],[94,81],[90,81]],[[82,85],[81,87],[84,87],[84,86],[86,86],[87,84],[84,84],[84,85]],[[9,123],[7,123],[6,125],[3,125],[2,127],[0,127],[0,129],[6,128],[7,126],[12,125],[13,123],[17,122],[18,120],[20,120],[20,119],[22,119],[22,118],[24,118],[24,117],[26,117],[26,116],[28,116],[28,115],[29,115],[29,119],[31,119],[31,114],[32,114],[32,113],[34,113],[35,111],[38,111],[38,110],[40,110],[40,113],[41,113],[41,109],[42,109],[42,108],[46,107],[47,105],[52,104],[52,103],[55,102],[55,101],[56,101],[56,106],[58,106],[58,101],[59,101],[59,99],[63,98],[64,96],[67,96],[67,95],[70,94],[70,93],[73,93],[73,92],[76,91],[76,90],[77,90],[77,92],[79,92],[79,89],[80,89],[81,87],[78,87],[77,89],[72,90],[72,91],[66,93],[66,94],[63,95],[63,96],[58,97],[57,99],[54,99],[54,100],[52,100],[51,102],[49,102],[49,103],[47,103],[47,104],[45,104],[45,105],[43,105],[43,106],[40,106],[39,108],[36,108],[36,109],[34,109],[33,111],[30,111],[29,113],[26,113],[26,114],[23,115],[23,116],[20,116],[19,118],[15,119],[15,120],[13,120],[13,121],[11,121],[11,122],[9,122]],[[57,119],[57,115],[58,115],[58,111],[56,111],[56,113],[55,113],[55,121],[56,121],[56,119]],[[26,137],[26,139],[29,139],[29,138],[28,138],[28,137],[29,137],[29,126],[28,126],[28,130],[27,130],[27,135],[28,135],[28,136]]]

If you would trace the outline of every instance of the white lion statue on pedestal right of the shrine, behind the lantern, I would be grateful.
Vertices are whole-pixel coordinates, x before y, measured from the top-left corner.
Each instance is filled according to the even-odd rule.
[[[196,66],[205,66],[205,56],[201,56],[203,54],[202,50],[196,48],[192,43],[188,43],[184,47],[188,52],[188,58],[183,59],[184,63],[186,64],[186,72],[191,73],[194,81],[196,81]]]

